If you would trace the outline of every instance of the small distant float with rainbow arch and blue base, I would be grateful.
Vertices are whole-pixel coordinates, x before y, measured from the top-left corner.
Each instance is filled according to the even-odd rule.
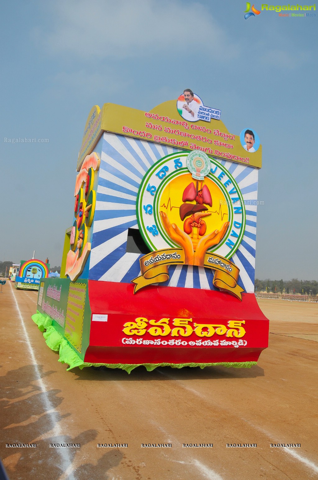
[[[50,264],[42,260],[22,260],[19,276],[15,277],[15,288],[21,290],[38,290],[41,278],[48,278]]]

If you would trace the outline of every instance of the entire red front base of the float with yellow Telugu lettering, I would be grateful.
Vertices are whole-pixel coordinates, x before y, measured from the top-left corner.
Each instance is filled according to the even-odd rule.
[[[152,286],[134,295],[132,284],[95,280],[88,283],[92,314],[108,317],[107,321],[91,322],[90,345],[85,354],[87,362],[257,361],[261,350],[268,345],[269,321],[254,294],[243,294],[240,301],[225,292]],[[137,317],[143,317],[140,328],[136,325]],[[164,325],[156,324],[163,318],[168,333]],[[191,319],[188,320],[191,328],[187,330],[182,325],[181,330],[172,335],[178,318]],[[230,335],[228,322],[233,320],[241,322],[245,330],[242,335],[239,324]],[[210,325],[200,330],[198,324]],[[157,327],[160,334],[155,330]]]

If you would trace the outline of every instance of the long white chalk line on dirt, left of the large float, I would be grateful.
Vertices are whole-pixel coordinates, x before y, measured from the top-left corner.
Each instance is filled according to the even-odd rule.
[[[31,356],[31,359],[32,359],[32,362],[33,362],[34,371],[35,371],[35,374],[36,374],[36,377],[37,377],[36,381],[39,383],[39,386],[40,386],[40,388],[43,392],[44,408],[45,408],[46,413],[49,415],[49,417],[51,419],[51,424],[52,424],[52,429],[51,430],[53,430],[54,436],[60,437],[60,443],[63,443],[63,444],[68,443],[65,440],[64,436],[62,435],[61,429],[59,427],[57,411],[53,407],[52,403],[49,400],[48,391],[46,389],[44,381],[41,378],[41,374],[39,372],[37,362],[36,362],[36,359],[35,359],[34,350],[32,348],[32,345],[31,345],[31,342],[30,342],[30,337],[28,335],[27,329],[26,329],[25,324],[24,324],[24,320],[23,320],[23,316],[22,316],[22,313],[21,313],[20,308],[19,308],[19,304],[17,302],[15,294],[13,293],[13,289],[12,289],[11,285],[10,285],[10,287],[11,287],[11,293],[12,293],[14,301],[15,301],[16,309],[19,312],[20,321],[21,321],[21,324],[22,324],[22,328],[23,328],[25,338],[26,338],[26,343],[28,345],[30,356]],[[64,480],[64,479],[76,480],[74,475],[72,474],[72,471],[74,470],[74,468],[72,466],[72,460],[71,460],[71,458],[68,454],[68,450],[64,449],[64,448],[59,448],[58,453],[62,458],[61,468],[64,470],[64,473],[62,474],[62,476],[60,476],[60,480]]]

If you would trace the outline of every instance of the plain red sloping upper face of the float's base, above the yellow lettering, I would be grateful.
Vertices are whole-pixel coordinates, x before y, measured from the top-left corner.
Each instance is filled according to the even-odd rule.
[[[198,288],[145,287],[134,295],[129,283],[89,280],[88,287],[92,313],[268,322],[253,293],[243,293],[240,301],[227,292]]]

